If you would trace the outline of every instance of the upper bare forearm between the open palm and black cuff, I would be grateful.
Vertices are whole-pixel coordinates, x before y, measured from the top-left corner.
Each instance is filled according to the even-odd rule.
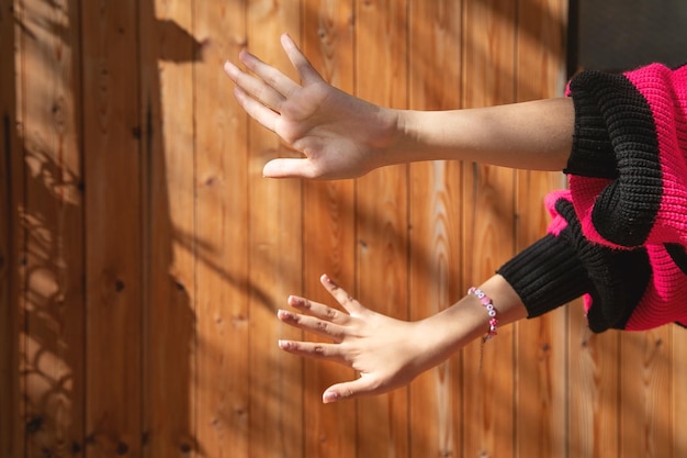
[[[536,170],[562,170],[571,154],[570,98],[453,111],[396,111],[397,132],[386,163],[470,160]]]

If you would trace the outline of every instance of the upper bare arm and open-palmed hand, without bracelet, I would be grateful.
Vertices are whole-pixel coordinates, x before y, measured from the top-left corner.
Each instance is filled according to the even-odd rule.
[[[514,168],[561,170],[572,146],[574,110],[565,98],[452,111],[379,107],[328,85],[293,41],[282,46],[297,83],[256,56],[225,71],[246,112],[275,132],[301,159],[274,159],[268,177],[354,178],[392,164],[459,159]]]

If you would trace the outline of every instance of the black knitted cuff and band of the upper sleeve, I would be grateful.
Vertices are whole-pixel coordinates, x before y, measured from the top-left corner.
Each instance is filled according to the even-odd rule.
[[[570,88],[575,104],[575,137],[564,171],[613,179],[596,198],[594,227],[615,245],[642,246],[663,197],[651,107],[624,75],[586,71],[573,78]],[[571,189],[579,191],[584,183],[574,185],[571,179]]]

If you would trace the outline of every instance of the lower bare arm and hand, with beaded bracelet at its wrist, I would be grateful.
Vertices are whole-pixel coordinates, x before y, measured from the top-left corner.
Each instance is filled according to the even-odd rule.
[[[357,380],[329,387],[323,394],[325,403],[405,386],[488,331],[489,317],[474,295],[466,295],[433,316],[405,322],[364,308],[327,276],[322,277],[322,283],[347,313],[291,297],[289,304],[299,313],[281,310],[278,316],[286,324],[333,340],[331,344],[280,340],[283,350],[335,361],[360,373]],[[480,288],[493,299],[499,326],[527,315],[517,293],[503,277],[494,276]]]

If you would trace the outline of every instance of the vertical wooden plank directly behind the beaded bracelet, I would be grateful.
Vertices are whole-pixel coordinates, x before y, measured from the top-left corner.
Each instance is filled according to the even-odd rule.
[[[515,3],[470,1],[464,7],[463,107],[513,102]],[[463,253],[465,288],[489,278],[515,252],[515,172],[466,165],[463,174]],[[499,328],[481,356],[470,345],[463,360],[463,454],[513,456],[514,333]]]

